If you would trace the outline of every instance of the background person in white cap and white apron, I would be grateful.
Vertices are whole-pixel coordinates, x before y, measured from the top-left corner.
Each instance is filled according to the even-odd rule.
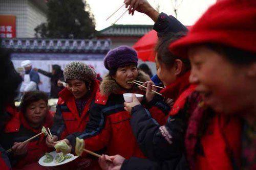
[[[28,91],[38,90],[38,83],[40,79],[38,73],[32,69],[31,61],[25,60],[22,62],[21,66],[25,68],[25,74],[19,91],[25,93]]]

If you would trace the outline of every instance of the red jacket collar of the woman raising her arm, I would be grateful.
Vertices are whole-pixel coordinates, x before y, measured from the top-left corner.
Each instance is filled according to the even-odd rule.
[[[178,96],[189,87],[189,78],[190,71],[185,72],[182,76],[178,77],[177,80],[166,86],[165,89],[161,90],[160,93],[163,94],[164,97],[176,100]]]

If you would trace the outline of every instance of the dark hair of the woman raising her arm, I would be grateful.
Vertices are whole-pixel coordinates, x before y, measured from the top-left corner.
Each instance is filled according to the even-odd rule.
[[[155,47],[157,53],[157,59],[160,63],[163,63],[166,67],[172,67],[176,59],[180,59],[183,63],[182,72],[190,70],[190,61],[187,58],[180,58],[169,51],[170,43],[184,37],[186,32],[168,33],[159,38]]]

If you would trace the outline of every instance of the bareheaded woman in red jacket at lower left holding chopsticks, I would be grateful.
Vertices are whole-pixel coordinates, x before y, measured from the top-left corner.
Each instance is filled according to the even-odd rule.
[[[49,152],[44,134],[22,143],[40,133],[42,126],[51,128],[53,117],[47,109],[47,103],[48,96],[44,92],[27,92],[20,104],[20,113],[12,115],[5,126],[1,135],[1,145],[5,150],[12,149],[8,157],[14,168],[22,168],[32,163],[34,166],[31,168],[39,167],[39,158]]]

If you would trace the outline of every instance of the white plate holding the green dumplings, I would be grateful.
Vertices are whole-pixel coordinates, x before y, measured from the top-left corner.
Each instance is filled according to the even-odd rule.
[[[53,156],[53,161],[52,161],[51,163],[45,163],[45,162],[44,162],[44,160],[46,159],[46,155],[42,156],[42,157],[39,159],[38,163],[39,163],[40,165],[42,165],[42,166],[58,166],[58,165],[62,165],[62,164],[71,162],[71,161],[75,160],[76,158],[78,158],[78,156],[74,156],[73,154],[67,154],[67,155],[72,156],[72,158],[66,159],[66,160],[64,160],[64,161],[62,161],[62,162],[59,162],[59,163],[56,163],[55,160],[54,160],[55,157],[56,157],[56,155],[57,155],[56,151],[53,151],[53,152],[51,152],[50,154]]]

